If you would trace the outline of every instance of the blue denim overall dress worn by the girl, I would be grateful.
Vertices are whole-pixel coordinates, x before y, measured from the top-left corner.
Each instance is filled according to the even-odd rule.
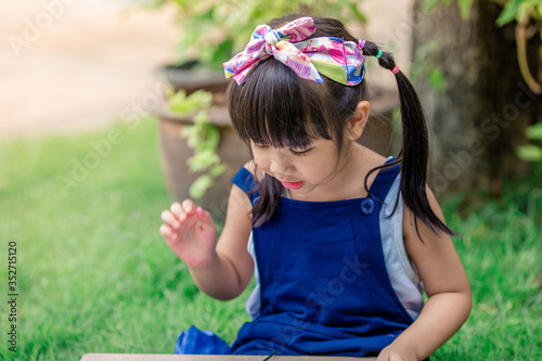
[[[413,322],[389,281],[379,230],[380,203],[399,170],[380,170],[364,198],[282,198],[271,220],[253,229],[259,315],[242,326],[232,346],[192,326],[176,352],[378,354]],[[232,182],[257,201],[248,170]]]

